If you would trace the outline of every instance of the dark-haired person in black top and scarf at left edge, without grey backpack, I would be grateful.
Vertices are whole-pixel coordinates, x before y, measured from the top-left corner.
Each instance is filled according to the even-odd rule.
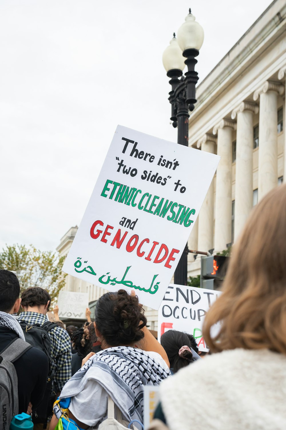
[[[15,338],[24,339],[23,331],[13,313],[20,308],[20,285],[9,270],[0,270],[0,355]],[[37,348],[30,348],[14,362],[18,376],[18,412],[31,412],[41,402],[48,375],[48,357]]]

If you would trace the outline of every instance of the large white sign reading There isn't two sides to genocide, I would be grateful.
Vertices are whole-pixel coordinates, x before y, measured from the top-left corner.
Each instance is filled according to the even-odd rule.
[[[219,160],[117,126],[63,271],[158,309]]]

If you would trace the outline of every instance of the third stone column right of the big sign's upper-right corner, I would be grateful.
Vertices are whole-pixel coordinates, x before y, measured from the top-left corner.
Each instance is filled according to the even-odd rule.
[[[253,95],[259,105],[258,200],[277,185],[277,93],[283,85],[266,81]]]

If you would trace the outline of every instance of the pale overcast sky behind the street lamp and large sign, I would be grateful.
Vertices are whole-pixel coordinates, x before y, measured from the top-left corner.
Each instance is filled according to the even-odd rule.
[[[177,140],[162,53],[189,7],[201,81],[269,4],[1,0],[0,249],[79,225],[117,124]]]

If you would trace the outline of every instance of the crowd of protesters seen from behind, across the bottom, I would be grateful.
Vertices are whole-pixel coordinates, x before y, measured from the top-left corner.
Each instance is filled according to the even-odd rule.
[[[253,209],[233,247],[222,294],[205,316],[203,358],[187,333],[169,330],[159,343],[134,291],[102,295],[93,322],[87,309],[82,326],[65,328],[57,306],[48,321],[45,289],[20,297],[15,273],[0,270],[1,361],[16,341],[22,351],[11,360],[13,413],[31,415],[37,430],[141,428],[143,388],[160,385],[151,429],[286,428],[285,239],[282,185]]]

